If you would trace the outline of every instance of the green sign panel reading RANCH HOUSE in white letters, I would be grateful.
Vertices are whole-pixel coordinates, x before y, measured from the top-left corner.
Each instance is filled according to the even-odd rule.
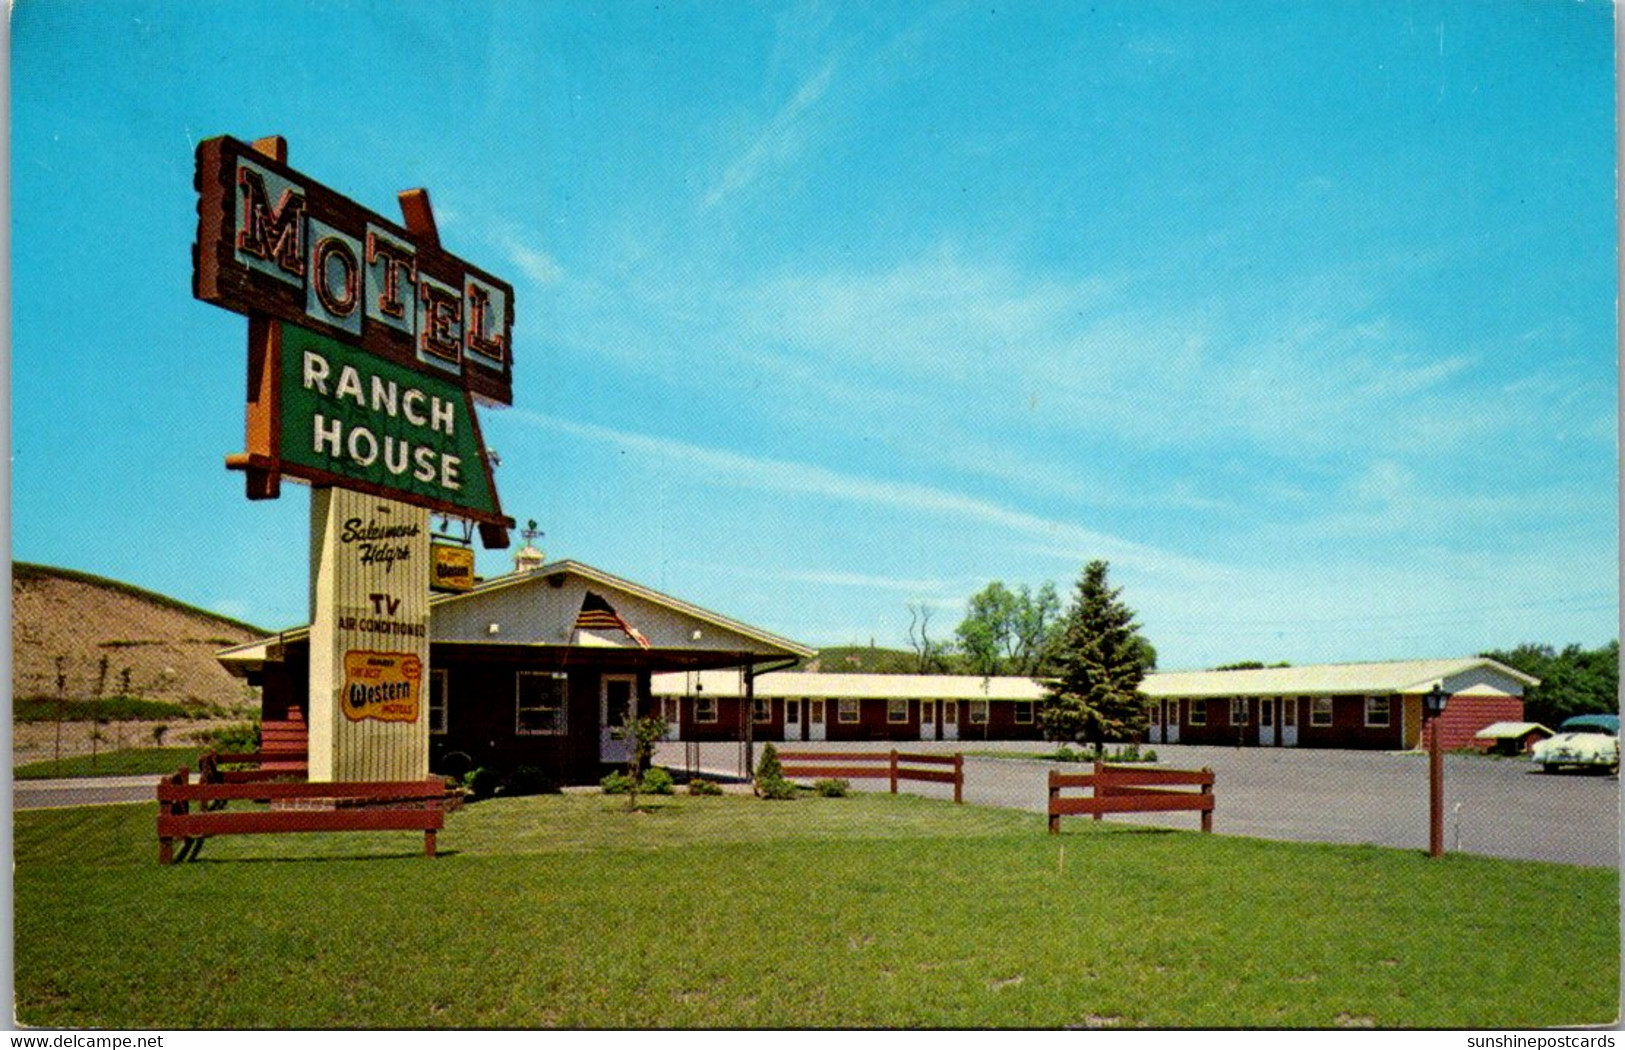
[[[283,468],[437,510],[499,515],[470,395],[307,328],[281,325]]]

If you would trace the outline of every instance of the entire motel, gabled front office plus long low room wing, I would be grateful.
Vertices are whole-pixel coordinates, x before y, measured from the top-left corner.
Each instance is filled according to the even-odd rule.
[[[684,741],[1042,740],[1043,684],[972,675],[790,671],[812,649],[577,562],[525,548],[515,572],[429,603],[429,767],[536,767],[596,780],[627,757],[629,709]],[[309,723],[309,627],[221,663],[262,688],[266,722]],[[1450,694],[1441,746],[1523,718],[1537,684],[1482,657],[1146,676],[1146,743],[1410,749],[1422,696]]]

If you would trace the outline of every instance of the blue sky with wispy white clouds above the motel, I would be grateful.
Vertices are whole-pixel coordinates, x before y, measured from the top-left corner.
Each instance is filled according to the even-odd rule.
[[[504,509],[812,645],[1112,562],[1164,668],[1618,621],[1604,3],[47,3],[11,24],[13,558],[268,627],[192,151],[427,187],[515,286]],[[483,551],[504,572],[510,551]]]

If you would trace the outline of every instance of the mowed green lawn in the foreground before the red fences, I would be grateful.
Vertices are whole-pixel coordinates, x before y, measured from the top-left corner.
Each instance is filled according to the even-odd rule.
[[[213,840],[16,814],[50,1027],[1537,1027],[1618,1000],[1615,871],[860,795],[496,800]],[[1536,936],[1536,918],[1540,933]]]

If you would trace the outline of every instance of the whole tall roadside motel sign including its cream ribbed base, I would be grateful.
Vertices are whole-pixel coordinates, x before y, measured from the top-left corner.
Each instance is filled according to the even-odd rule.
[[[514,289],[450,255],[427,193],[405,226],[286,164],[286,143],[197,150],[193,293],[249,317],[250,499],[310,501],[310,779],[429,769],[429,514],[507,546],[474,401],[510,405]]]

